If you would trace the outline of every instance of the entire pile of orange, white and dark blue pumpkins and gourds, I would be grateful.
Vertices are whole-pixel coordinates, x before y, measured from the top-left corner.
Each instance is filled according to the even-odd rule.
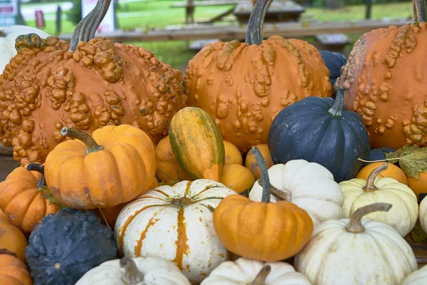
[[[424,284],[404,237],[427,232],[427,169],[399,157],[427,152],[422,3],[362,36],[334,88],[307,42],[263,41],[270,0],[246,43],[205,46],[184,78],[107,38],[18,36],[0,284]]]

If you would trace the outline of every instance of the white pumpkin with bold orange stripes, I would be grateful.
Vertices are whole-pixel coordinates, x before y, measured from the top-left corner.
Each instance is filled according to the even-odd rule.
[[[127,257],[174,261],[191,282],[200,282],[228,259],[213,217],[221,199],[235,194],[219,182],[204,179],[149,190],[117,217],[117,246]]]

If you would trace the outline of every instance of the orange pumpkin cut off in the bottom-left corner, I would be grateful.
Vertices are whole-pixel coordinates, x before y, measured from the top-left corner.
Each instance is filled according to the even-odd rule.
[[[26,265],[16,257],[16,254],[6,249],[0,249],[0,284],[33,284],[30,273],[26,269]]]

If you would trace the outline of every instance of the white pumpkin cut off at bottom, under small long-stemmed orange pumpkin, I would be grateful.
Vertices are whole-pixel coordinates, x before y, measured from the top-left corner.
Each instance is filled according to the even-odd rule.
[[[216,267],[200,285],[311,285],[307,277],[285,262],[269,262],[241,257]]]

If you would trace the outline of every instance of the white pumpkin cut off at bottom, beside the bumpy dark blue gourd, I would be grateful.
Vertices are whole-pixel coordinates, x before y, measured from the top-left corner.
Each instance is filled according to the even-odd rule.
[[[80,278],[75,285],[191,285],[171,261],[136,257],[105,261]]]

